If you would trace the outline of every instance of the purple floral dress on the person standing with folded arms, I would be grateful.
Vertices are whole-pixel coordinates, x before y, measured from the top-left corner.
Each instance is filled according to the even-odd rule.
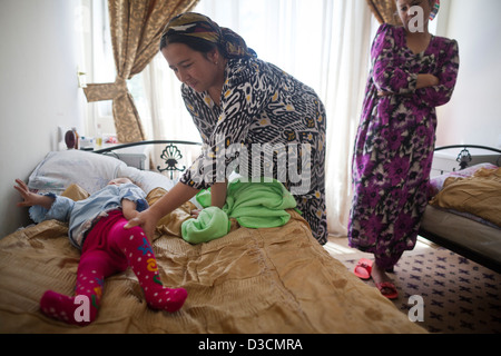
[[[415,246],[428,204],[435,107],[451,99],[459,50],[456,41],[432,37],[429,48],[414,55],[402,27],[382,24],[371,56],[352,162],[348,239],[350,246],[374,254],[379,266],[391,268]],[[434,75],[440,85],[415,89],[419,73]]]

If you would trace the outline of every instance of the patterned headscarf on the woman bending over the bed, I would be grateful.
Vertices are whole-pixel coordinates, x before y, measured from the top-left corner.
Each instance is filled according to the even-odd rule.
[[[167,38],[169,36],[195,37],[219,44],[219,48],[225,51],[223,55],[228,59],[257,57],[240,36],[196,12],[185,12],[173,18],[164,29],[161,37],[165,36]]]

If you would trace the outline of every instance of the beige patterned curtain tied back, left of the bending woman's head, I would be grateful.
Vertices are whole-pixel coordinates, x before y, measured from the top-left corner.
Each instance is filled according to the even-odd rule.
[[[176,14],[188,11],[198,0],[108,0],[108,11],[117,78],[112,83],[90,83],[88,102],[112,100],[119,142],[146,139],[127,79],[145,69],[158,52],[161,32]]]

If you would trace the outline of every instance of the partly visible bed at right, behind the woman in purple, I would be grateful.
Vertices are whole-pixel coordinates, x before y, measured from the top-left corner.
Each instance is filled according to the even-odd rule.
[[[501,273],[501,150],[456,145],[436,152],[455,152],[459,166],[432,177],[420,236]]]

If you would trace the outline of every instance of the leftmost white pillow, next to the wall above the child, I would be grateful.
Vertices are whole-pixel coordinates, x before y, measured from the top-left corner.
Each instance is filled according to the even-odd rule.
[[[51,151],[31,174],[28,188],[61,194],[71,184],[77,184],[94,194],[117,178],[122,167],[127,165],[105,155],[78,149]]]

